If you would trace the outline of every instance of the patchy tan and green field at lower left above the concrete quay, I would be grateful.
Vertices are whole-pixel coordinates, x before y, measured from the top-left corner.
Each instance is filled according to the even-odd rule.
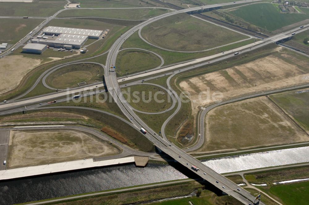
[[[44,165],[119,153],[120,149],[86,132],[11,131],[7,167]]]

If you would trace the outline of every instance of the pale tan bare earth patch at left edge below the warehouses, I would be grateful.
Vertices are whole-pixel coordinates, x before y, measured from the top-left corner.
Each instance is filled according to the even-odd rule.
[[[40,65],[41,60],[21,55],[6,56],[0,59],[0,94],[13,90],[24,75]]]

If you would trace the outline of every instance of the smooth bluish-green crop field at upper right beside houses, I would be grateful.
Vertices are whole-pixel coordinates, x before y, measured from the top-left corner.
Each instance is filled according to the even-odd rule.
[[[268,31],[309,18],[309,9],[301,8],[305,14],[283,14],[275,4],[259,3],[239,7],[230,11],[231,14]]]

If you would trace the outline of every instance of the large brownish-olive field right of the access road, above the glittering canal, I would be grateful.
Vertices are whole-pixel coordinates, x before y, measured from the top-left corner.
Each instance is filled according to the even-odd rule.
[[[214,108],[206,115],[205,129],[206,141],[200,151],[243,149],[309,140],[266,97]]]

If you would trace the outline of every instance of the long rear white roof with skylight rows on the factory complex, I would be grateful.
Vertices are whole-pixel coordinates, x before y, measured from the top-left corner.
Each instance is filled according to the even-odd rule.
[[[55,33],[55,34],[75,34],[84,36],[95,36],[99,37],[103,31],[92,30],[92,29],[81,29],[81,28],[67,28],[67,27],[55,27],[49,26],[42,30],[44,33]]]

